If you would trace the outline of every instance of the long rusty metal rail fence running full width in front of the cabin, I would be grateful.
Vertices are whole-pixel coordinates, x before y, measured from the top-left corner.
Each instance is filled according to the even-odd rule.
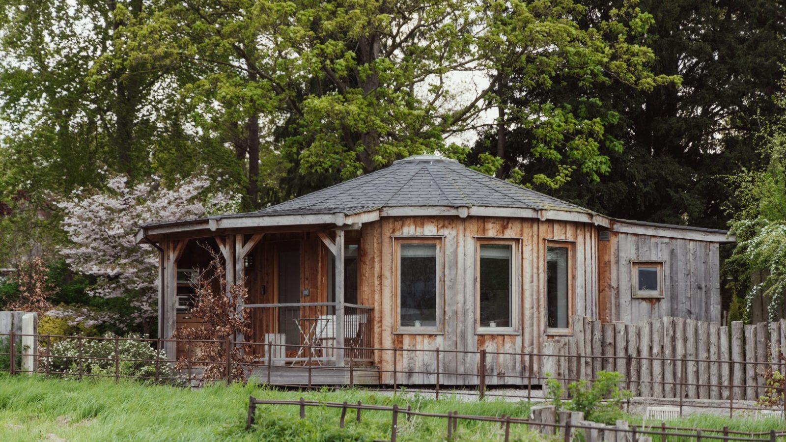
[[[546,353],[538,353],[538,352],[487,352],[486,350],[479,350],[479,351],[466,351],[466,350],[445,350],[441,348],[435,349],[422,349],[422,348],[378,348],[378,347],[361,347],[361,346],[351,346],[351,347],[344,347],[345,350],[345,360],[343,366],[334,366],[334,365],[321,365],[323,363],[327,363],[324,358],[315,358],[312,359],[310,355],[318,355],[319,352],[328,352],[335,350],[336,347],[333,345],[330,346],[320,346],[320,345],[297,345],[297,344],[274,344],[272,342],[266,343],[257,343],[257,342],[245,342],[245,341],[233,341],[230,340],[229,337],[222,339],[222,340],[178,340],[178,339],[152,339],[152,338],[128,338],[128,337],[74,337],[74,336],[62,336],[62,335],[42,335],[42,334],[23,334],[23,333],[14,333],[13,331],[10,333],[0,333],[0,341],[2,341],[3,337],[7,337],[9,342],[9,351],[8,352],[0,352],[0,355],[5,355],[9,357],[9,360],[12,363],[9,364],[9,367],[2,368],[0,370],[8,371],[10,374],[18,374],[24,371],[31,371],[31,370],[21,370],[17,369],[17,366],[13,361],[17,359],[18,356],[33,356],[39,360],[39,366],[35,372],[40,374],[49,374],[49,375],[58,375],[58,376],[75,376],[77,378],[113,378],[116,381],[122,378],[135,378],[135,379],[142,379],[142,380],[152,380],[152,381],[171,381],[171,382],[182,382],[182,383],[193,383],[194,381],[200,380],[199,369],[204,368],[206,366],[211,365],[219,365],[222,366],[222,371],[226,374],[226,380],[230,381],[230,373],[232,373],[233,368],[235,366],[241,366],[244,372],[248,373],[249,378],[255,378],[256,381],[259,381],[262,384],[270,384],[271,373],[273,370],[280,369],[282,366],[299,366],[303,367],[307,370],[307,382],[302,384],[276,384],[282,387],[294,387],[294,388],[311,388],[314,386],[314,375],[321,374],[325,372],[333,372],[333,373],[343,373],[348,374],[348,381],[345,385],[349,385],[351,387],[358,386],[354,383],[354,379],[356,379],[356,374],[360,369],[368,369],[374,360],[382,360],[386,361],[387,368],[374,368],[377,373],[380,375],[380,380],[382,377],[385,377],[386,381],[379,383],[379,385],[387,385],[389,388],[387,389],[380,389],[380,388],[373,388],[367,387],[364,385],[366,389],[372,390],[384,390],[384,391],[392,391],[397,392],[400,390],[402,385],[419,385],[421,389],[413,389],[407,388],[408,392],[428,392],[430,394],[434,394],[436,399],[439,399],[441,394],[441,389],[444,389],[446,385],[454,385],[459,387],[476,387],[476,391],[474,392],[462,392],[461,390],[451,390],[450,394],[456,395],[472,395],[478,396],[479,400],[483,400],[486,396],[494,397],[494,396],[504,396],[504,397],[515,397],[519,399],[539,399],[538,397],[534,397],[532,392],[533,389],[530,387],[533,385],[542,385],[544,381],[547,379],[542,370],[538,370],[537,373],[534,373],[532,370],[535,366],[543,367],[545,362],[549,358],[570,358],[575,359],[575,366],[578,367],[578,370],[575,371],[575,376],[559,376],[559,377],[552,377],[556,381],[560,381],[563,385],[567,385],[567,383],[572,381],[578,380],[586,380],[589,382],[593,382],[596,380],[596,373],[593,370],[589,370],[589,372],[585,372],[582,367],[585,365],[584,362],[586,359],[590,361],[594,361],[595,359],[600,359],[601,363],[608,362],[611,366],[616,366],[617,362],[625,363],[628,367],[626,373],[630,373],[630,366],[634,363],[641,363],[642,361],[663,361],[663,362],[671,362],[671,363],[678,363],[681,369],[679,370],[680,375],[678,379],[674,381],[657,381],[659,384],[662,385],[673,385],[677,398],[653,398],[655,401],[663,400],[663,399],[672,399],[678,400],[679,407],[680,407],[680,415],[683,414],[684,407],[688,406],[685,404],[686,400],[703,400],[703,399],[710,399],[707,397],[701,397],[702,395],[700,392],[702,389],[698,387],[718,387],[722,389],[724,392],[724,400],[713,400],[712,402],[707,401],[706,403],[690,403],[691,407],[706,407],[706,408],[721,408],[721,409],[728,409],[729,410],[729,417],[733,416],[734,411],[760,411],[760,410],[769,410],[763,407],[751,407],[746,406],[741,403],[735,403],[737,400],[735,399],[734,392],[737,389],[751,389],[755,388],[758,391],[762,392],[774,392],[776,394],[783,394],[786,397],[786,385],[782,391],[778,392],[773,389],[772,385],[758,385],[758,384],[741,384],[736,385],[733,383],[733,373],[735,370],[735,366],[746,365],[746,366],[773,366],[775,363],[773,362],[739,362],[739,361],[728,361],[728,360],[720,360],[720,359],[689,359],[689,358],[666,358],[666,357],[654,357],[654,356],[616,356],[616,355],[551,355]],[[20,348],[19,344],[17,344],[17,337],[35,337],[35,348]],[[57,355],[52,354],[51,349],[53,346],[54,341],[73,341],[76,342],[78,352],[76,355]],[[112,341],[114,343],[114,353],[112,355],[105,355],[105,356],[94,356],[94,355],[84,355],[81,353],[81,349],[83,348],[83,344],[90,341]],[[156,348],[158,351],[156,352],[155,359],[132,359],[132,358],[125,358],[119,354],[119,344],[123,341],[137,341],[137,342],[145,342],[149,344],[152,348]],[[178,344],[185,346],[187,348],[187,357],[184,359],[167,359],[167,357],[162,355],[162,350],[166,346],[166,344],[174,344],[178,346]],[[253,363],[237,363],[233,361],[230,357],[230,352],[225,351],[223,352],[226,357],[222,358],[222,360],[199,360],[193,359],[194,352],[198,351],[200,344],[211,343],[211,344],[220,344],[222,348],[229,349],[235,346],[241,348],[252,348],[252,351],[256,354],[256,359]],[[303,349],[302,354],[307,355],[307,357],[298,358],[292,361],[289,361],[285,358],[277,359],[276,357],[270,357],[278,354],[285,354],[286,348],[297,348]],[[432,355],[435,361],[433,366],[434,370],[417,370],[417,369],[407,369],[405,361],[407,360],[407,355],[412,355],[413,353],[425,353],[428,355]],[[376,359],[373,359],[373,356],[376,355]],[[464,355],[464,356],[471,356],[477,359],[476,370],[473,372],[461,371],[458,370],[456,366],[453,370],[446,370],[441,365],[448,365],[447,363],[440,364],[439,361],[446,360],[446,356],[451,355],[454,359],[459,359],[457,356]],[[521,363],[520,373],[518,374],[509,374],[509,373],[498,373],[494,372],[490,374],[489,371],[489,363],[490,359],[496,359],[500,356],[511,356],[519,358]],[[65,372],[63,370],[53,370],[52,368],[52,361],[53,359],[71,359],[75,361],[75,369],[76,371],[69,371]],[[90,366],[90,363],[101,363],[101,362],[109,362],[112,363],[114,367],[114,373],[101,373],[95,374],[86,370],[87,366]],[[152,375],[148,376],[129,376],[123,375],[120,373],[120,366],[121,363],[151,363],[155,366],[155,371]],[[180,366],[185,367],[181,370],[178,370],[177,374],[174,376],[167,376],[162,373],[162,367],[173,366],[175,363],[178,363]],[[291,363],[292,365],[284,365],[282,363]],[[686,376],[686,370],[689,364],[702,364],[702,363],[718,363],[718,364],[728,364],[729,366],[729,381],[724,384],[707,384],[703,382],[690,382]],[[589,366],[593,364],[590,363]],[[401,368],[399,368],[401,367]],[[786,362],[781,361],[779,364],[781,373],[786,374]],[[420,377],[420,378],[417,378]],[[460,380],[461,382],[446,382],[447,378],[453,377],[454,380]],[[412,379],[417,378],[419,381],[413,382]],[[489,378],[492,378],[490,383]],[[425,380],[428,379],[428,382]],[[493,380],[496,379],[497,382],[495,383]],[[500,382],[501,381],[501,382]],[[619,387],[623,389],[631,389],[636,388],[637,384],[640,384],[641,380],[633,379],[630,377],[623,377],[623,380],[620,382]],[[494,390],[488,391],[488,387],[490,385],[505,387],[507,389],[515,389],[516,387],[527,387],[526,392],[522,391],[520,394],[516,392],[506,392],[505,394],[498,394],[495,393]],[[690,387],[696,388],[696,396],[689,395],[688,389]],[[428,390],[426,390],[428,389]],[[779,388],[780,390],[780,388]],[[690,397],[688,397],[690,396]],[[782,410],[780,410],[781,416],[784,416]]]

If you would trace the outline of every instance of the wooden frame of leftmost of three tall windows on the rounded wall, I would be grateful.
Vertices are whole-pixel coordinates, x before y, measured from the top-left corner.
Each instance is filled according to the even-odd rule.
[[[443,334],[445,269],[444,269],[444,237],[408,236],[393,237],[393,277],[395,302],[394,334]],[[402,244],[433,244],[436,246],[436,326],[402,326],[401,325],[401,246]]]

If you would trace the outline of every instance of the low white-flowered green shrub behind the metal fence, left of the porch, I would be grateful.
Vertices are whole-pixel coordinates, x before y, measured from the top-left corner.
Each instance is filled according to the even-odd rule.
[[[106,333],[112,338],[112,333]],[[141,339],[138,334],[127,336],[132,340]],[[84,339],[82,350],[79,351],[78,339],[64,339],[52,344],[49,354],[42,359],[41,370],[62,374],[95,374],[115,376],[115,341],[114,339]],[[156,352],[147,341],[119,340],[119,375],[128,378],[153,379],[156,377],[156,355],[159,378],[174,378],[177,372],[167,363],[167,354],[163,350]],[[81,355],[81,357],[80,357]]]

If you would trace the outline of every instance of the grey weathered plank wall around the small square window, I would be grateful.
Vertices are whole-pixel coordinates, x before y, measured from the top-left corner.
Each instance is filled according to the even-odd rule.
[[[601,319],[637,323],[674,316],[707,322],[721,320],[718,243],[611,232],[608,260],[601,258]],[[631,262],[663,261],[663,298],[632,297]]]

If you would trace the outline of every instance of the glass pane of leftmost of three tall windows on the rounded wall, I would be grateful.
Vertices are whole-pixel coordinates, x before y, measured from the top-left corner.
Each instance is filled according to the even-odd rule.
[[[437,246],[402,244],[399,286],[402,327],[437,326]]]

